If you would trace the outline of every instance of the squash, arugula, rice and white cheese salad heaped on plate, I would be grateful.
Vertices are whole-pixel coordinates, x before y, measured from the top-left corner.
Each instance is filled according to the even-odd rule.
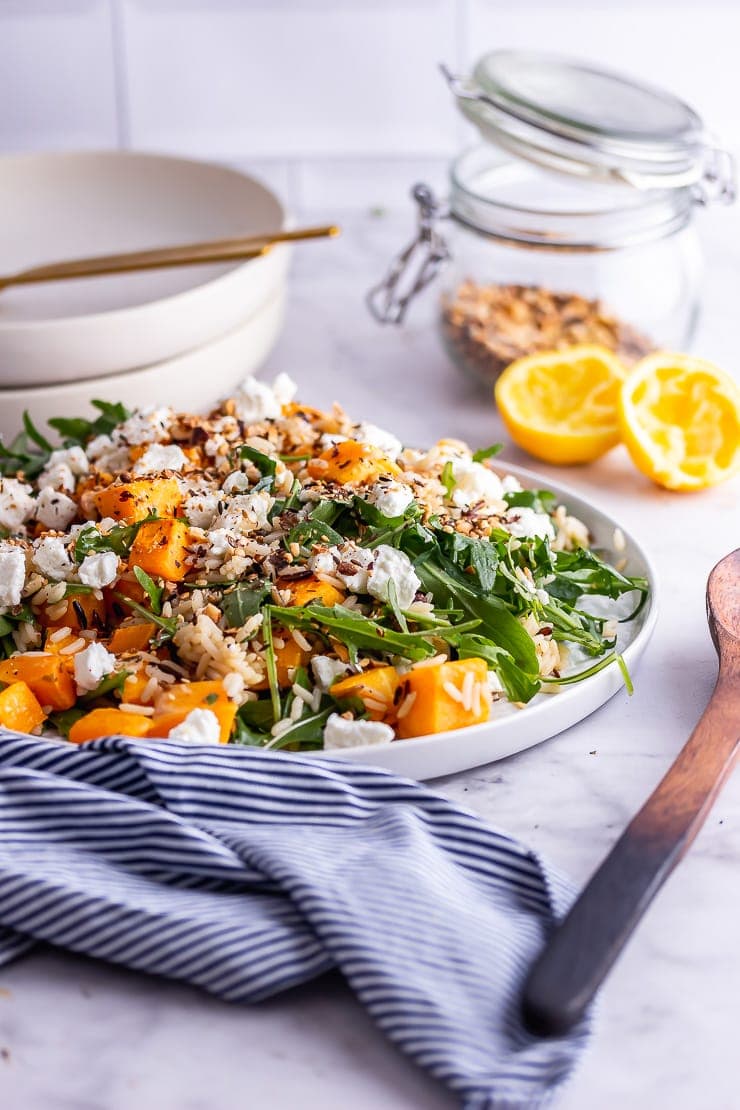
[[[0,444],[0,726],[336,749],[625,669],[646,579],[497,446],[405,447],[294,394],[93,402]]]

